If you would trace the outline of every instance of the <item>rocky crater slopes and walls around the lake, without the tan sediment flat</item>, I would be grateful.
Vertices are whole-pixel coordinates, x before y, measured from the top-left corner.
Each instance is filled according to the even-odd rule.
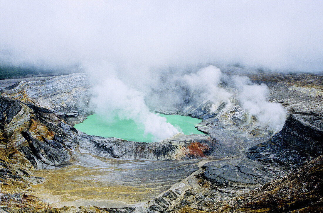
[[[0,94],[1,211],[310,212],[319,208],[322,157],[316,157],[322,154],[323,77],[245,74],[254,82],[266,83],[271,90],[269,99],[282,103],[289,113],[283,129],[273,136],[265,128],[247,123],[238,102],[231,108],[220,104],[212,113],[209,103],[162,111],[203,119],[197,128],[207,135],[177,134],[155,143],[90,136],[73,128],[91,113],[84,74],[8,83]],[[160,196],[119,209],[53,208],[30,195],[30,185],[44,181],[34,176],[35,169],[78,164],[79,150],[104,158],[200,162],[191,175]],[[179,166],[177,172],[184,171]],[[283,179],[273,182],[279,178]],[[279,205],[274,206],[273,200]]]

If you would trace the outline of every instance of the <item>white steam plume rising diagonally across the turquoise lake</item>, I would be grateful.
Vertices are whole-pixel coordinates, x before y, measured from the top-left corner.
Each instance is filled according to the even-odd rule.
[[[152,141],[172,137],[182,131],[166,122],[166,118],[150,112],[144,101],[144,94],[127,86],[108,63],[83,63],[83,69],[91,73],[93,88],[91,102],[94,111],[107,121],[117,115],[120,119],[131,119],[144,129],[144,134],[152,134]]]

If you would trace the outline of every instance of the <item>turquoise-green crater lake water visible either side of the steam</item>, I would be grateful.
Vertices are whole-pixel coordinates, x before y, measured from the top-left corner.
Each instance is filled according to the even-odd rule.
[[[194,127],[201,120],[181,115],[159,115],[165,117],[167,122],[173,126],[179,127],[185,135],[203,134]],[[151,142],[152,139],[152,135],[144,135],[143,128],[139,128],[133,120],[120,120],[119,118],[115,118],[112,122],[108,122],[98,114],[88,116],[85,121],[75,124],[74,127],[89,135],[97,135],[105,138],[116,137],[124,140],[145,142]]]

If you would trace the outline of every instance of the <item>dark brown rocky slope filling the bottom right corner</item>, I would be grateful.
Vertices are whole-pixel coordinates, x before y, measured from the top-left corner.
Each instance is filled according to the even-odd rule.
[[[323,155],[290,175],[235,198],[212,212],[321,212],[323,211]]]

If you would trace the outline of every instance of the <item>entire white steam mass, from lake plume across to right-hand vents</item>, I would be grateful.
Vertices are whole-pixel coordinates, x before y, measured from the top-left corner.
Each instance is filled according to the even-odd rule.
[[[286,119],[286,112],[281,104],[266,100],[269,89],[265,84],[252,83],[245,76],[226,76],[213,65],[198,69],[195,73],[175,70],[169,78],[163,78],[161,72],[151,72],[153,75],[147,73],[147,83],[140,85],[129,81],[129,76],[132,76],[133,72],[138,73],[137,70],[127,70],[126,73],[131,74],[124,76],[118,72],[118,68],[109,63],[83,63],[82,68],[90,74],[94,85],[91,90],[94,111],[108,121],[112,121],[115,115],[120,119],[134,120],[145,133],[153,135],[153,141],[163,140],[181,132],[166,122],[164,117],[151,112],[158,108],[160,103],[172,107],[185,105],[185,101],[190,102],[188,106],[209,102],[212,104],[212,113],[225,102],[227,111],[224,113],[228,113],[236,104],[234,100],[238,100],[248,116],[247,123],[250,123],[251,117],[254,116],[257,119],[257,127],[266,127],[271,131],[279,131]],[[123,68],[123,72],[125,70]],[[233,88],[222,87],[223,82],[227,82]]]

